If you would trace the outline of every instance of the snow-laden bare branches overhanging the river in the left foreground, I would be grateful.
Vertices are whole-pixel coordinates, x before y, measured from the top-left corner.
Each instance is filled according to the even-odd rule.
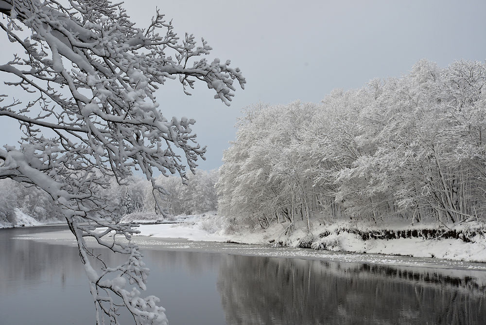
[[[177,173],[184,181],[186,166],[193,172],[203,157],[205,148],[191,130],[195,121],[168,120],[158,109],[155,91],[167,79],[178,78],[187,94],[200,80],[226,105],[233,82],[243,88],[245,80],[229,60],[208,61],[208,43],[198,44],[191,34],[180,38],[158,11],[143,29],[118,3],[63,3],[68,6],[0,0],[1,29],[22,49],[0,64],[0,73],[7,86],[25,90],[21,100],[0,95],[0,116],[17,120],[24,133],[18,147],[0,149],[0,179],[35,186],[59,207],[76,237],[98,324],[104,318],[118,324],[119,306],[128,308],[136,324],[166,324],[158,299],[140,297],[148,270],[130,241],[136,231],[119,223],[105,189],[111,178],[125,184],[136,168],[154,191],[165,193],[155,171]],[[126,202],[127,210],[133,207]],[[95,231],[97,226],[105,230]],[[86,237],[127,254],[127,262],[96,270]]]

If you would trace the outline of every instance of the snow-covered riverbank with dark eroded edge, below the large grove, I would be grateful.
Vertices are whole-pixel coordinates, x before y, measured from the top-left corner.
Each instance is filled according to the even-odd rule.
[[[241,234],[227,234],[217,227],[217,222],[213,221],[214,216],[192,216],[189,222],[178,224],[152,224],[141,225],[140,234],[158,238],[186,238],[191,241],[230,241],[245,244],[267,244],[288,247],[304,247],[318,250],[328,250],[334,252],[352,253],[376,253],[387,255],[403,255],[413,257],[435,257],[440,259],[486,262],[486,238],[484,235],[474,235],[472,229],[480,228],[477,224],[461,225],[455,231],[459,236],[469,233],[470,238],[464,239],[439,238],[429,236],[426,238],[421,235],[421,231],[430,230],[435,225],[420,225],[415,227],[405,225],[387,225],[386,229],[393,229],[393,236],[397,238],[385,239],[368,238],[363,239],[357,234],[360,225],[350,223],[340,223],[332,226],[313,225],[312,232],[295,230],[290,235],[285,234],[286,228],[282,224],[273,225],[267,229],[254,229]],[[393,226],[393,227],[392,227]],[[471,229],[467,231],[466,228]],[[362,226],[362,229],[364,226]],[[399,234],[407,231],[417,231],[411,238],[399,238]],[[378,228],[367,227],[368,233],[377,234]],[[392,232],[392,231],[390,231]],[[397,235],[395,235],[397,234]],[[418,234],[418,235],[417,235]],[[455,234],[455,233],[454,233]],[[472,234],[472,235],[471,235]],[[377,237],[377,236],[375,236]]]

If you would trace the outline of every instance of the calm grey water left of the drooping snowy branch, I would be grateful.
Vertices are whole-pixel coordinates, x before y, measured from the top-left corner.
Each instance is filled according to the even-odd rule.
[[[31,231],[0,230],[0,324],[94,324],[77,250],[12,239]]]

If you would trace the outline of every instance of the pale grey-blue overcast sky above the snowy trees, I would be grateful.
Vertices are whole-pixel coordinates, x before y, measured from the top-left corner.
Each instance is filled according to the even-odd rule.
[[[127,0],[124,6],[139,27],[148,25],[158,6],[178,33],[208,41],[210,60],[231,59],[246,77],[230,108],[202,83],[192,96],[176,81],[157,92],[166,117],[196,120],[199,143],[208,145],[207,161],[199,163],[206,170],[221,166],[237,117],[258,102],[319,102],[335,88],[399,77],[422,58],[440,67],[486,59],[484,0]],[[2,48],[2,64],[11,58],[8,52]],[[2,144],[14,142],[17,128],[0,119]]]

